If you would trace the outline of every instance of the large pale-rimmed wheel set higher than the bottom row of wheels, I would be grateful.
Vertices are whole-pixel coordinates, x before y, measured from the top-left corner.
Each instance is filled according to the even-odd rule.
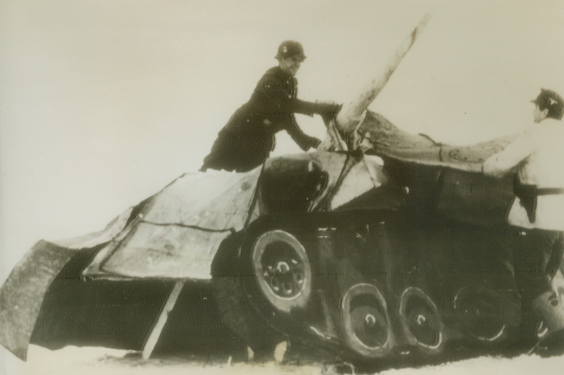
[[[263,296],[276,309],[304,307],[311,293],[311,266],[303,245],[283,230],[257,238],[252,249],[255,279]]]

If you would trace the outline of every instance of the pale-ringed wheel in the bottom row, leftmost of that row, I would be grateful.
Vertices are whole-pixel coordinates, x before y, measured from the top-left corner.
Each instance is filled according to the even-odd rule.
[[[386,355],[391,347],[391,324],[386,301],[372,284],[353,285],[341,301],[341,335],[346,345],[368,358]]]

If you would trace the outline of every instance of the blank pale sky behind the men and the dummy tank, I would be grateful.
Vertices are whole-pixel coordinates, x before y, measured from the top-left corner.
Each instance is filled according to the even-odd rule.
[[[562,1],[0,0],[0,280],[196,171],[284,39],[307,55],[301,99],[349,102],[426,13],[370,107],[396,126],[472,144],[564,94]],[[279,133],[274,155],[297,152]]]

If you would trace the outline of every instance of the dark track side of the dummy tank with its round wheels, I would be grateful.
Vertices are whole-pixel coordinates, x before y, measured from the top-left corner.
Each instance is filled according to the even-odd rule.
[[[391,211],[261,217],[214,260],[222,320],[255,352],[283,340],[354,362],[437,358],[460,345],[507,350],[521,317],[506,269],[513,234],[438,220]]]

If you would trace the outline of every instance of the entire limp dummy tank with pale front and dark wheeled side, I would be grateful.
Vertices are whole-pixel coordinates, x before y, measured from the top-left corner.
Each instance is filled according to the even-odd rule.
[[[211,327],[255,352],[289,341],[351,361],[511,346],[512,184],[479,172],[510,137],[436,144],[371,111],[358,132],[388,146],[187,173],[100,233],[37,243],[0,289],[2,345],[148,356],[172,319],[195,345]]]

